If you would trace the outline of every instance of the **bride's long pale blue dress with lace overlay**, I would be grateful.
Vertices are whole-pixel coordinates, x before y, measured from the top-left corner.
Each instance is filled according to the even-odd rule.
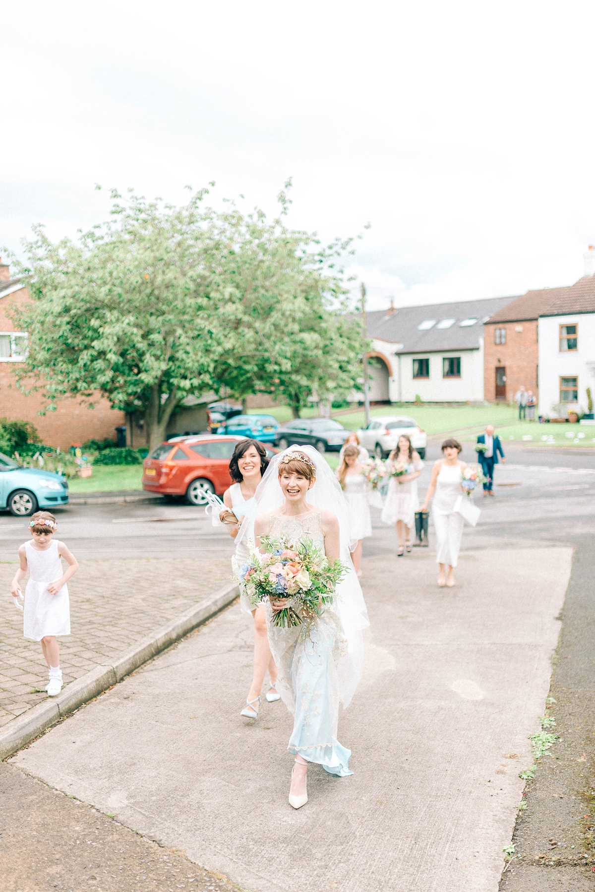
[[[298,517],[271,514],[269,535],[288,536],[293,542],[307,537],[324,551],[325,537],[317,511]],[[288,750],[308,762],[321,764],[326,772],[344,777],[351,750],[336,738],[339,718],[339,681],[336,665],[346,641],[335,605],[310,625],[281,629],[272,624],[273,611],[266,605],[269,645],[277,669],[277,690],[293,713],[293,732]]]

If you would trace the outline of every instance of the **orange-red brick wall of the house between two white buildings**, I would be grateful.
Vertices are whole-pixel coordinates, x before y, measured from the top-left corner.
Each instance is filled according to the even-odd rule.
[[[506,328],[506,343],[495,343],[495,329]],[[506,400],[512,401],[521,384],[538,396],[537,319],[523,322],[486,323],[483,326],[484,399],[496,401],[496,367],[506,368]]]

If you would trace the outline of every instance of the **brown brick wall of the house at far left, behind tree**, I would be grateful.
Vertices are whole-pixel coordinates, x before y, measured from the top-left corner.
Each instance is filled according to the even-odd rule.
[[[9,318],[10,312],[27,300],[29,297],[26,288],[0,299],[0,331],[15,330]],[[72,442],[103,440],[103,437],[112,437],[115,441],[114,428],[126,425],[124,412],[111,409],[109,402],[98,394],[92,400],[94,409],[87,408],[89,400],[76,397],[61,400],[55,412],[48,412],[45,416],[37,415],[39,409],[44,408],[45,401],[40,393],[23,396],[17,389],[13,374],[15,366],[14,362],[0,362],[0,417],[32,422],[47,446],[67,450]]]

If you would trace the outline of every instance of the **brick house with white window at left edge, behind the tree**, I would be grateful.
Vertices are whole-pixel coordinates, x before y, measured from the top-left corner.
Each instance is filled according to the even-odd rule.
[[[115,442],[115,428],[126,425],[126,417],[98,394],[94,409],[87,408],[88,401],[69,397],[59,401],[55,412],[42,416],[37,414],[45,405],[41,393],[23,396],[16,387],[13,363],[24,361],[27,333],[15,331],[10,314],[25,301],[29,293],[23,277],[11,278],[8,264],[0,260],[0,417],[32,422],[46,445],[62,450],[68,450],[72,442],[104,437]]]

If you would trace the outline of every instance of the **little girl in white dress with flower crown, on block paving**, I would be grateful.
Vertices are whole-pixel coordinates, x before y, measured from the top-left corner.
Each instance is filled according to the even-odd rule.
[[[29,532],[31,541],[19,549],[21,564],[12,580],[12,597],[22,598],[19,583],[29,571],[25,589],[23,637],[41,641],[45,662],[49,670],[49,682],[45,688],[50,697],[62,690],[60,648],[56,635],[70,635],[70,604],[66,582],[79,565],[63,542],[53,539],[58,524],[49,511],[37,511],[31,517]],[[69,565],[62,572],[62,560]]]

